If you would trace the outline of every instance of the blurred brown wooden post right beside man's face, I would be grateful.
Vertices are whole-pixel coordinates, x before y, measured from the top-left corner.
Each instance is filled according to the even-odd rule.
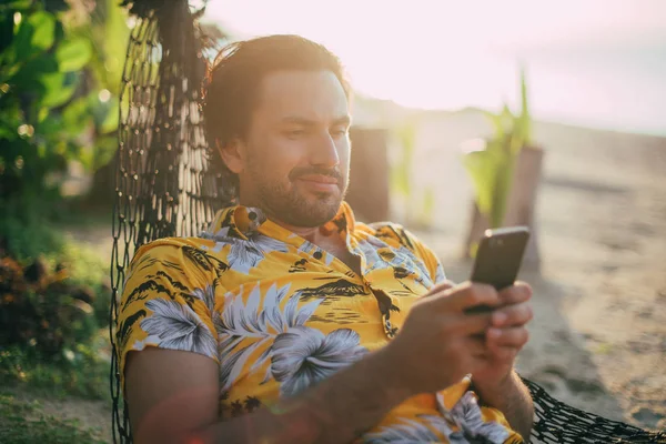
[[[346,202],[363,222],[390,216],[386,130],[352,128],[351,176]]]

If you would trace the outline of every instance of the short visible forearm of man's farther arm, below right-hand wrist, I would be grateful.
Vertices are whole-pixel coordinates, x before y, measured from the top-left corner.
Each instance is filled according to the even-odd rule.
[[[502,384],[484,386],[474,383],[474,387],[482,404],[504,413],[512,428],[518,432],[525,442],[529,440],[534,423],[534,405],[529,391],[515,372],[512,371]]]

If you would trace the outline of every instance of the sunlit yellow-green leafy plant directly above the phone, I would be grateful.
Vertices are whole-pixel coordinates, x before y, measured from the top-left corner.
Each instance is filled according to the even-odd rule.
[[[463,165],[472,180],[478,211],[488,218],[491,228],[504,223],[516,157],[532,142],[524,69],[521,70],[521,104],[518,115],[514,115],[506,104],[498,114],[486,112],[494,135],[483,147],[472,147],[463,155]]]

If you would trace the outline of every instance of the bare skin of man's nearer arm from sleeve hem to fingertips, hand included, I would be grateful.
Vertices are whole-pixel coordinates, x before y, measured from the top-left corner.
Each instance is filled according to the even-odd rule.
[[[412,309],[385,347],[301,395],[220,423],[219,366],[204,355],[163,349],[130,352],[125,393],[137,443],[345,443],[375,426],[417,393],[452,385],[485,367],[480,334],[490,314],[465,314],[498,303],[483,285],[436,287]]]

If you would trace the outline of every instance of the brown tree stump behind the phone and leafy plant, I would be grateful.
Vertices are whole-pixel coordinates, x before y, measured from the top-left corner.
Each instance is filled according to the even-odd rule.
[[[541,258],[538,252],[538,230],[535,219],[538,183],[542,176],[544,151],[537,147],[525,147],[516,159],[516,167],[504,216],[504,226],[526,225],[531,236],[525,250],[523,266],[538,270]],[[488,220],[481,214],[474,201],[472,204],[472,221],[465,240],[464,255],[470,256],[471,246],[477,243],[485,230],[490,228]]]

